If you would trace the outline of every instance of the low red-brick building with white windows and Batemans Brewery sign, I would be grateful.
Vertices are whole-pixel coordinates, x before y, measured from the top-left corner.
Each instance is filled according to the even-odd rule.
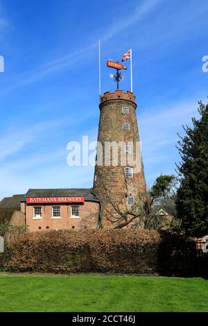
[[[31,232],[94,229],[99,203],[91,189],[30,189],[21,200],[21,212]]]

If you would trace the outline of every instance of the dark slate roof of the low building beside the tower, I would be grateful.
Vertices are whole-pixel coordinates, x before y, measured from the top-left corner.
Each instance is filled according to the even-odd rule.
[[[98,203],[96,196],[92,194],[92,189],[29,189],[22,202],[26,202],[27,197],[85,197],[86,201]]]

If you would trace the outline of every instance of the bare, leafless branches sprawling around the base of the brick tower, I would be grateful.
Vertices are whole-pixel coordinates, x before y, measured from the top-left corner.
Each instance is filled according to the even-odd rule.
[[[115,196],[112,196],[112,193],[107,189],[105,182],[105,172],[102,173],[97,171],[98,177],[102,180],[103,189],[105,192],[105,196],[103,198],[99,198],[96,194],[94,194],[98,200],[100,201],[101,211],[99,218],[99,228],[102,228],[103,225],[103,217],[107,218],[113,225],[113,228],[119,229],[123,228],[131,223],[135,228],[145,228],[145,229],[155,229],[160,230],[168,225],[170,227],[172,220],[167,221],[166,214],[157,214],[159,209],[164,209],[166,212],[168,209],[168,216],[175,216],[175,201],[173,198],[173,187],[168,189],[165,194],[160,194],[159,192],[154,193],[153,187],[147,189],[144,193],[139,194],[137,198],[135,198],[135,204],[130,206],[127,203],[128,197],[128,183],[124,175],[124,184],[125,191],[119,198],[119,201],[115,200]],[[162,176],[164,177],[164,176]],[[157,178],[158,179],[158,178]],[[171,181],[173,182],[173,180]],[[116,199],[119,196],[116,197]],[[103,216],[103,205],[106,202],[110,203],[110,209],[106,208],[105,205],[105,215]],[[159,205],[157,205],[157,211],[154,212],[155,200],[158,200]],[[106,214],[107,213],[107,214]],[[167,223],[168,222],[168,223]]]

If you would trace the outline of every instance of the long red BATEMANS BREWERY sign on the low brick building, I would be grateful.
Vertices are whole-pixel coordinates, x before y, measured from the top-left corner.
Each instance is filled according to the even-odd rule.
[[[27,204],[85,203],[85,197],[28,197]]]

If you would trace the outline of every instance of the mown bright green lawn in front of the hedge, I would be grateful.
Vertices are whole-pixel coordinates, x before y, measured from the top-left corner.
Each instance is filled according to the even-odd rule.
[[[208,281],[1,275],[0,311],[208,311]]]

